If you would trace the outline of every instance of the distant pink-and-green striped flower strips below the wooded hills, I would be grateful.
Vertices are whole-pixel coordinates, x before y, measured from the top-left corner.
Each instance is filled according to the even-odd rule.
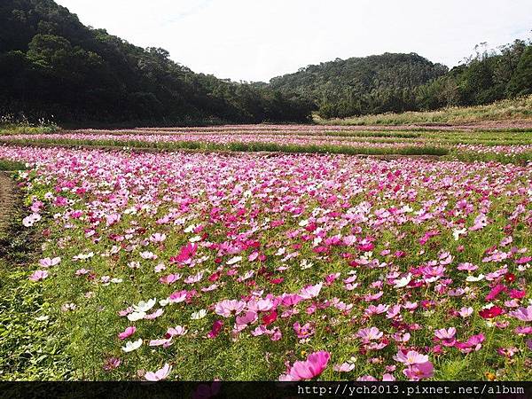
[[[436,155],[448,160],[497,160],[504,163],[532,160],[532,128],[236,125],[48,133],[6,130],[0,136],[0,143],[165,151]]]

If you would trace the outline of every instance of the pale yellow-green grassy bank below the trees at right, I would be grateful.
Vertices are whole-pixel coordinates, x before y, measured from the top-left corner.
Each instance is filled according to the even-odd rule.
[[[470,123],[532,119],[532,96],[505,99],[487,106],[454,106],[438,111],[381,113],[345,119],[320,119],[319,124],[334,125],[408,125],[412,123]]]

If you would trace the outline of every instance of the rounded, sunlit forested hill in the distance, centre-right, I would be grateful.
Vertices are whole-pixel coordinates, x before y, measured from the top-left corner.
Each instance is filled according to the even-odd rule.
[[[446,74],[416,53],[336,59],[271,79],[272,88],[314,101],[327,116],[415,109],[415,89]]]

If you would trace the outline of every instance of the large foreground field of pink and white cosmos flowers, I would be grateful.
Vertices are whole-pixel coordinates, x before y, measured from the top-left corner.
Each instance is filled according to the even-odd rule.
[[[20,223],[41,247],[23,279],[69,379],[532,378],[527,163],[12,144],[0,159],[29,166]]]

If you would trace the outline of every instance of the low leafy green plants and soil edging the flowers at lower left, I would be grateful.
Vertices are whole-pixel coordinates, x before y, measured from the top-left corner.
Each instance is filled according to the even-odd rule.
[[[0,380],[68,379],[66,331],[57,319],[42,317],[52,304],[42,286],[27,280],[37,232],[22,226],[22,197],[11,205],[0,209],[11,216],[11,223],[0,225]]]

